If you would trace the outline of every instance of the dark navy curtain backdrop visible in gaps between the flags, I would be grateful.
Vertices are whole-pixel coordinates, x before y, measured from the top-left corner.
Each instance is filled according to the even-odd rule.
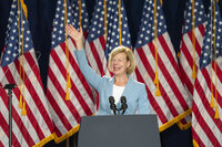
[[[89,17],[91,19],[93,7],[95,0],[85,0],[87,8],[89,11]],[[144,0],[123,0],[129,28],[132,39],[132,45],[135,44],[138,36],[138,31],[140,28],[140,20],[143,9]],[[171,36],[171,41],[174,45],[175,51],[179,50],[180,39],[181,39],[181,27],[183,21],[183,11],[186,0],[162,0],[163,1],[163,12],[167,20],[168,31]],[[57,0],[24,0],[28,8],[28,20],[31,29],[31,34],[33,38],[36,51],[41,53],[39,59],[39,66],[41,72],[41,77],[43,85],[47,85],[47,74],[48,74],[48,63],[49,63],[49,53],[51,46],[51,28],[52,20],[54,17],[56,3]],[[210,0],[203,0],[205,10],[208,12],[208,6]],[[10,11],[11,0],[0,0],[0,54],[2,46],[4,44],[6,30],[8,23],[8,17]],[[220,3],[221,6],[221,3]],[[70,146],[73,146],[73,138],[77,138],[77,135],[73,135],[70,139]],[[192,132],[191,128],[188,130],[180,130],[176,125],[173,125],[169,129],[162,132],[161,144],[162,147],[192,147]],[[46,147],[62,147],[65,146],[65,141],[56,145],[53,141],[50,141]]]

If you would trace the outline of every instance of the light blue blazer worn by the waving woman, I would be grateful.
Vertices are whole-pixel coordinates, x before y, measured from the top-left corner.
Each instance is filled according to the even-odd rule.
[[[80,51],[75,50],[74,53],[83,76],[99,93],[99,109],[97,115],[113,115],[113,112],[110,109],[109,97],[112,96],[114,76],[112,78],[99,76],[89,66],[83,49]],[[125,115],[135,114],[137,109],[139,114],[150,114],[150,103],[144,84],[137,82],[129,76],[122,96],[125,96],[128,104],[128,108],[124,113]],[[119,102],[117,108],[120,107],[121,103]]]

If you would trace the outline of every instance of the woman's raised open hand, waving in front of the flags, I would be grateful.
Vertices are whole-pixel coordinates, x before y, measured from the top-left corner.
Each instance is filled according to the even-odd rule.
[[[80,27],[80,31],[78,31],[71,24],[67,24],[65,33],[69,34],[74,40],[78,51],[83,48],[83,31],[81,27]]]

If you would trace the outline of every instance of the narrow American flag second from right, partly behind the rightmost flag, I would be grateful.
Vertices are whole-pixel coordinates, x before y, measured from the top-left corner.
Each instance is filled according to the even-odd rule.
[[[196,73],[199,70],[199,60],[203,46],[206,15],[201,0],[189,0],[184,12],[184,24],[180,46],[179,67],[189,97],[193,98],[193,88]],[[191,115],[186,116],[190,122]],[[178,123],[182,128],[183,123]],[[189,125],[190,126],[190,125]]]

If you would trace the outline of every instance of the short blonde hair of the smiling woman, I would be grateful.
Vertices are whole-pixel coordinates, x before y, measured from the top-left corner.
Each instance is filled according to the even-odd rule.
[[[132,51],[127,46],[117,46],[112,50],[112,52],[109,54],[109,69],[111,70],[112,59],[119,53],[125,53],[127,61],[130,61],[130,66],[127,67],[127,74],[131,74],[135,70],[135,60]]]

